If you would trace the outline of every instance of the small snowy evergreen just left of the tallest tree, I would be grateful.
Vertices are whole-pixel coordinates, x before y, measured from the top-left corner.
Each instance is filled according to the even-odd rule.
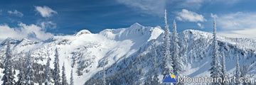
[[[159,83],[159,78],[158,78],[158,75],[157,75],[157,73],[158,73],[158,65],[157,65],[157,62],[156,62],[156,59],[157,59],[157,53],[156,53],[156,50],[154,50],[154,78],[153,78],[153,82],[152,82],[152,84],[153,85],[159,85],[160,83]]]

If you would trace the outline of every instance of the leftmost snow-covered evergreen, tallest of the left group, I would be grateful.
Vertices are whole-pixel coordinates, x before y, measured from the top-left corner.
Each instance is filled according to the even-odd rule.
[[[2,85],[14,85],[14,72],[11,60],[11,48],[10,48],[10,40],[7,41],[6,47],[6,59],[4,60],[4,76],[1,81],[3,81]]]

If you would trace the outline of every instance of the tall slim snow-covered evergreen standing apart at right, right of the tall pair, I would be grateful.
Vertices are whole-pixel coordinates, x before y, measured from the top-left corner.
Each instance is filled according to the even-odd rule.
[[[213,79],[217,79],[218,77],[221,77],[221,64],[220,64],[220,58],[219,58],[219,52],[218,52],[218,41],[216,38],[216,25],[215,25],[215,18],[213,20],[213,57],[212,62],[210,63],[210,77],[213,77]],[[220,82],[218,83],[220,84]]]

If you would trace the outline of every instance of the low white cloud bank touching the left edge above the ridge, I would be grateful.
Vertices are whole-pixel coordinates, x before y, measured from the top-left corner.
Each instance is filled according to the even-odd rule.
[[[15,28],[11,28],[7,24],[0,25],[0,41],[6,38],[46,40],[51,36],[53,36],[53,34],[46,33],[46,28],[34,24],[26,25],[25,23],[18,23],[18,26]]]

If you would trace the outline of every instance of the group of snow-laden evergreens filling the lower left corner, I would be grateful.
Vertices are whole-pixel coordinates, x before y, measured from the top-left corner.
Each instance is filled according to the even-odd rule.
[[[19,59],[21,64],[19,64],[18,74],[17,78],[18,81],[15,81],[15,69],[14,69],[14,61],[12,60],[12,53],[10,48],[10,40],[6,43],[6,53],[5,53],[5,60],[4,60],[4,76],[1,78],[1,81],[3,81],[2,85],[33,85],[35,83],[38,83],[39,85],[42,85],[43,83],[45,85],[73,85],[73,69],[71,71],[70,75],[70,83],[68,83],[65,75],[65,64],[63,62],[62,67],[62,76],[60,77],[60,66],[59,66],[59,55],[58,55],[58,49],[55,49],[55,59],[54,59],[54,69],[51,71],[50,69],[50,57],[48,57],[46,66],[44,67],[44,74],[34,74],[35,70],[33,69],[33,60],[31,58],[31,51],[26,53],[26,62],[23,62],[23,60]],[[26,63],[26,64],[25,64]],[[36,65],[36,64],[35,64]],[[53,73],[52,73],[53,72]],[[36,77],[44,77],[35,79]]]

